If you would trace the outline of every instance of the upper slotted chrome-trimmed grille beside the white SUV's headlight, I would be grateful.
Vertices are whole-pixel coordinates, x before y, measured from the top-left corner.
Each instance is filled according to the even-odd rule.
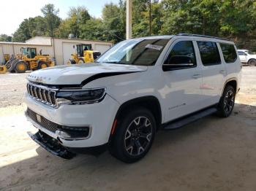
[[[42,85],[35,85],[30,82],[26,87],[32,98],[44,104],[56,106],[56,89],[50,89]]]

